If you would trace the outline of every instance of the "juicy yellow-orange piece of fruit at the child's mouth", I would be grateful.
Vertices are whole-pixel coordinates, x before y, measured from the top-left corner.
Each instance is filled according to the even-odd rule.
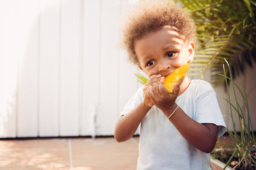
[[[165,77],[165,87],[169,93],[172,93],[174,90],[174,82],[180,83],[182,77],[187,73],[190,65],[184,64],[180,68],[176,68],[169,76]]]

